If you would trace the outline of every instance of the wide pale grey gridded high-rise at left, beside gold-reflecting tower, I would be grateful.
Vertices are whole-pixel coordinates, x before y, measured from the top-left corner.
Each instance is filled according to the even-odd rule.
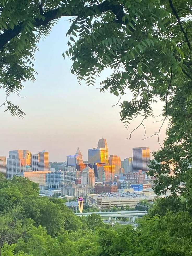
[[[26,159],[23,158],[23,150],[11,150],[9,151],[9,157],[7,158],[7,179],[13,178],[14,175],[20,172],[25,172]]]

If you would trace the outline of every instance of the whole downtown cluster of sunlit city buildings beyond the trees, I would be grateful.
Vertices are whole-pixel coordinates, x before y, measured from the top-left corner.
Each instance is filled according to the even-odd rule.
[[[0,173],[7,179],[24,176],[39,183],[40,193],[48,196],[61,193],[72,197],[93,193],[111,193],[123,189],[142,190],[150,188],[150,151],[148,147],[133,148],[133,157],[121,161],[117,155],[108,156],[105,139],[100,139],[97,148],[88,149],[88,161],[77,148],[74,155],[59,170],[49,165],[49,153],[36,154],[28,150],[9,151],[9,157],[0,156]]]

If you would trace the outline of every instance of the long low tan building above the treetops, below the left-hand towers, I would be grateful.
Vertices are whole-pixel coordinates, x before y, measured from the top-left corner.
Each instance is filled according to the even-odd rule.
[[[30,181],[38,183],[39,186],[43,186],[46,185],[45,174],[48,172],[50,171],[25,171],[22,174],[19,174],[18,176],[28,178]]]

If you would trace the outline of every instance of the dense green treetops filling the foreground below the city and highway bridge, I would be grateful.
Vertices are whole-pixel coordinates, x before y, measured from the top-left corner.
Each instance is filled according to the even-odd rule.
[[[62,199],[39,197],[27,178],[0,177],[1,256],[191,255],[191,213],[183,198],[162,198],[131,225],[77,217]]]

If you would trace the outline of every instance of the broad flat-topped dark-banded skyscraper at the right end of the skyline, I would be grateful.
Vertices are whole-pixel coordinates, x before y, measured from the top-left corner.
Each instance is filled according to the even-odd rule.
[[[149,147],[133,147],[133,172],[149,171]]]

